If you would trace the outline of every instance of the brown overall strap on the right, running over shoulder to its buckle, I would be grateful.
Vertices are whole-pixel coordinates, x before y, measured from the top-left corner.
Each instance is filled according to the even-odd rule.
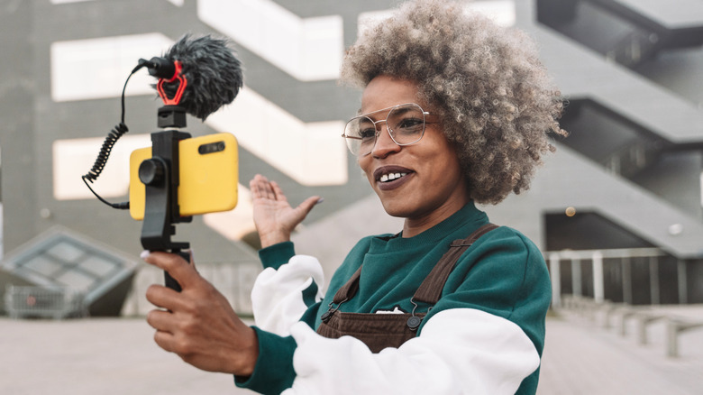
[[[444,283],[447,282],[449,274],[454,269],[456,262],[459,261],[461,254],[464,253],[471,244],[479,240],[480,236],[487,234],[497,227],[498,225],[494,224],[483,225],[474,233],[470,234],[469,237],[463,240],[454,240],[449,246],[449,251],[444,253],[440,261],[434,265],[430,274],[427,275],[425,281],[423,281],[420,287],[415,291],[413,299],[434,306],[442,296]]]

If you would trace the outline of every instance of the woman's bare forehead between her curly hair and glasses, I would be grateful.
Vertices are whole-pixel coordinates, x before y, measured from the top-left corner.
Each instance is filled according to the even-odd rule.
[[[407,79],[379,76],[371,79],[361,96],[361,114],[368,114],[384,108],[418,102],[417,85]]]

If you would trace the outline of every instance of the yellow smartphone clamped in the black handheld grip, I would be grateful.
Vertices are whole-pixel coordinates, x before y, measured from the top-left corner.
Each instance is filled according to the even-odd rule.
[[[239,184],[237,140],[232,133],[206,134],[178,142],[180,216],[229,211],[237,206]],[[144,219],[146,188],[139,166],[151,158],[151,147],[130,155],[130,215]]]

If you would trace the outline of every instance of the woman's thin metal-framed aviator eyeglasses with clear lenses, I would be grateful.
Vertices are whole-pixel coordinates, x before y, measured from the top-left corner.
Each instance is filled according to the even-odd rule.
[[[374,121],[369,115],[388,111],[386,119]],[[430,113],[415,103],[383,108],[369,114],[353,117],[344,127],[344,140],[354,155],[366,156],[373,151],[379,139],[381,122],[386,123],[388,135],[397,145],[419,142],[425,134],[425,116]]]

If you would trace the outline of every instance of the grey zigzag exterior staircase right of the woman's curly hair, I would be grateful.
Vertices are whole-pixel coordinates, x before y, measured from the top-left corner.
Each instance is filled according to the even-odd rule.
[[[703,300],[703,2],[531,0],[516,14],[568,98],[571,135],[491,219],[548,249],[560,234],[544,215],[595,214],[685,262],[689,300]],[[612,244],[603,230],[589,248]]]

